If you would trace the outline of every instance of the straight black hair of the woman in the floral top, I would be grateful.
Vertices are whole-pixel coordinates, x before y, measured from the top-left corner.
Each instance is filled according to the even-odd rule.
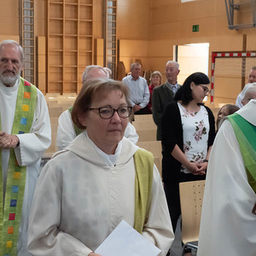
[[[194,82],[195,85],[199,84],[210,84],[210,79],[207,77],[205,73],[196,72],[189,75],[189,77],[184,81],[183,86],[181,86],[173,100],[174,101],[182,101],[184,105],[189,104],[189,102],[193,101],[192,90],[190,88],[190,84]]]

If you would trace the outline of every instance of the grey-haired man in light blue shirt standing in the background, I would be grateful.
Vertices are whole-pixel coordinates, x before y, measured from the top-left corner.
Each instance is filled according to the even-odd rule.
[[[142,65],[138,62],[132,63],[131,75],[122,80],[129,87],[131,107],[135,114],[150,113],[150,109],[147,108],[150,96],[148,84],[146,79],[140,76],[141,72]]]

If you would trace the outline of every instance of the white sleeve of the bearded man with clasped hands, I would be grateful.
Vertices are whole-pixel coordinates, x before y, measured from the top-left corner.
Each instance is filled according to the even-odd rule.
[[[15,155],[20,166],[31,166],[36,163],[49,148],[51,130],[49,111],[44,95],[38,90],[37,106],[34,113],[32,128],[29,133],[16,134],[20,146],[15,148]]]

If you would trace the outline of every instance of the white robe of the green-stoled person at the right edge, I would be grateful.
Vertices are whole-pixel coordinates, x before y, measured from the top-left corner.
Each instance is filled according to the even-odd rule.
[[[256,100],[236,113],[256,126]],[[255,256],[255,202],[235,132],[230,121],[225,120],[212,146],[207,169],[197,255]]]

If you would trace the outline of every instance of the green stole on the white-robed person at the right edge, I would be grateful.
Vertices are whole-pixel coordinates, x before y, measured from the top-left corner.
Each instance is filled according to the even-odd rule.
[[[246,166],[248,183],[256,193],[256,126],[253,126],[238,113],[229,116],[241,148],[241,155]]]

